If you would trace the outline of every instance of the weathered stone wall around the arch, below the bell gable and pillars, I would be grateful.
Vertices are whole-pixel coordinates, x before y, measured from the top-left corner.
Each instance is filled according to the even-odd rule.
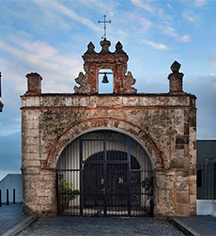
[[[154,163],[154,214],[196,214],[195,96],[25,94],[22,99],[24,211],[55,215],[55,168],[86,130],[117,129],[139,139]]]

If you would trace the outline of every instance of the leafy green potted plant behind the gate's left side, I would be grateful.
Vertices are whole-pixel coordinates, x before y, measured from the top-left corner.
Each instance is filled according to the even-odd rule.
[[[69,202],[78,197],[79,190],[73,188],[73,184],[70,181],[62,179],[60,181],[60,196],[61,202]]]

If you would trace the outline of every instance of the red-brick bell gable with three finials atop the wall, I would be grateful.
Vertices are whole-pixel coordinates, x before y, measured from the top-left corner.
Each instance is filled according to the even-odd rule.
[[[79,74],[75,81],[80,87],[75,86],[74,91],[77,94],[97,94],[98,93],[98,73],[100,69],[111,69],[113,71],[113,93],[115,94],[131,94],[137,90],[131,87],[135,84],[135,79],[131,72],[127,71],[128,56],[122,50],[120,42],[116,44],[114,53],[109,51],[110,42],[104,39],[101,41],[102,49],[99,53],[94,51],[92,42],[88,45],[88,50],[83,56],[84,70]]]

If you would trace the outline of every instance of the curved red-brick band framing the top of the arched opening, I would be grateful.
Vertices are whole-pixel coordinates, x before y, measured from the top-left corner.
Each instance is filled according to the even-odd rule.
[[[163,155],[163,152],[159,150],[156,143],[144,130],[124,120],[113,118],[88,119],[68,129],[56,142],[53,143],[48,153],[47,160],[41,162],[41,167],[55,169],[62,150],[70,143],[72,139],[76,138],[85,131],[103,127],[130,133],[145,147],[150,158],[152,159],[154,165],[153,168],[164,168],[165,156]]]

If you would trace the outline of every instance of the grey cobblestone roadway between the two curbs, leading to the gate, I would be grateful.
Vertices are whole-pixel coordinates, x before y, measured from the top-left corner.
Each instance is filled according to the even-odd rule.
[[[183,236],[184,234],[167,220],[154,218],[57,216],[53,218],[39,218],[18,235]]]

